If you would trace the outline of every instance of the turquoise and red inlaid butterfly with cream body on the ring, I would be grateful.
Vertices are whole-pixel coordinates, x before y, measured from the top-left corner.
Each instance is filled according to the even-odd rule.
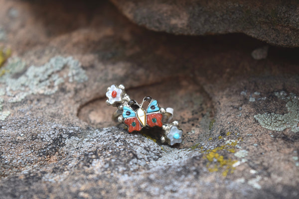
[[[143,103],[142,103],[143,104]],[[123,107],[124,123],[128,126],[128,132],[140,131],[143,127],[159,126],[162,124],[162,114],[159,112],[157,100],[151,100],[147,111],[139,105],[139,108],[135,111],[130,106],[125,105]]]

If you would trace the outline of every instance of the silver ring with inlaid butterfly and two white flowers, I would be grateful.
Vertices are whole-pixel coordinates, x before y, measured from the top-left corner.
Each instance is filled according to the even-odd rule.
[[[161,127],[162,143],[174,145],[182,142],[182,129],[178,121],[168,123],[173,116],[173,108],[161,108],[157,100],[147,96],[141,103],[132,100],[126,93],[124,85],[112,85],[107,88],[106,103],[117,107],[113,113],[112,119],[119,122],[129,133],[140,132],[143,128]],[[144,102],[149,105],[144,108]]]

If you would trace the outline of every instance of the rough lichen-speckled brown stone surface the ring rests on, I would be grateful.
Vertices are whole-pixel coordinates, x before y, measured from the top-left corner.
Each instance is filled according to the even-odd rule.
[[[0,0],[1,199],[299,197],[298,49],[256,60],[265,44],[243,34],[158,33],[71,2]],[[112,84],[173,107],[182,143],[115,126]]]

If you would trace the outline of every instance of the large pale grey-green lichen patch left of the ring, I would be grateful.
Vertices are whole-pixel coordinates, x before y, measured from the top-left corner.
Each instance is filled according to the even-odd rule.
[[[14,58],[3,67],[8,72],[1,77],[0,83],[4,85],[9,102],[21,101],[28,95],[52,95],[58,91],[59,85],[64,83],[67,78],[69,82],[81,83],[87,80],[81,64],[72,57],[53,57],[44,65],[30,66],[27,70],[25,70],[25,66],[25,62]],[[64,75],[61,75],[63,74],[60,73],[61,71],[64,71]],[[14,78],[15,73],[22,75]]]

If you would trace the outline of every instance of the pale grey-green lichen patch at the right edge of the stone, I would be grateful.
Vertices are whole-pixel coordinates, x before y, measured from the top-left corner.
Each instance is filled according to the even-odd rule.
[[[291,131],[299,132],[299,98],[292,93],[287,96],[286,92],[276,92],[275,95],[281,100],[287,101],[286,106],[289,112],[286,114],[274,112],[257,114],[254,118],[261,126],[269,130],[283,131],[286,128],[291,128]]]

